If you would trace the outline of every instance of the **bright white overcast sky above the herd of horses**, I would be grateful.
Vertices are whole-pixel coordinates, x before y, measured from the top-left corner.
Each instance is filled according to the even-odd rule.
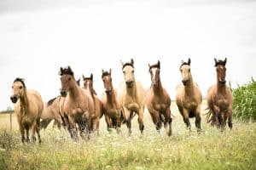
[[[65,1],[0,0],[0,110],[13,106],[15,77],[43,99],[59,94],[61,66],[79,78],[95,77],[102,94],[102,69],[112,68],[113,85],[123,80],[121,64],[135,60],[136,78],[150,86],[148,63],[161,62],[163,86],[175,98],[181,60],[191,59],[203,96],[216,82],[213,58],[227,57],[234,86],[256,77],[255,1]]]

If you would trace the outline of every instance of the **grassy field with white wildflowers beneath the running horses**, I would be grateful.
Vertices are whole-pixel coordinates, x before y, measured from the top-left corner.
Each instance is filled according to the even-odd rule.
[[[227,128],[220,133],[206,124],[202,116],[201,135],[196,133],[193,119],[189,134],[174,104],[172,113],[175,118],[171,138],[164,129],[156,133],[150,117],[145,114],[143,136],[138,131],[137,117],[133,119],[130,137],[125,126],[121,135],[114,131],[109,134],[102,119],[99,137],[75,143],[65,130],[50,126],[41,131],[42,144],[21,144],[15,116],[10,132],[9,115],[1,115],[0,169],[256,168],[256,123],[235,119],[232,131]]]

